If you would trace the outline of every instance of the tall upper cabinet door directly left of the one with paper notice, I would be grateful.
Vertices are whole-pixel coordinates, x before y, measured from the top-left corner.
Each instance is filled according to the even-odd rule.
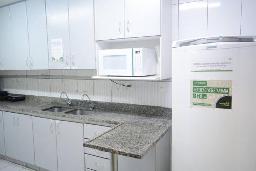
[[[32,70],[47,70],[47,26],[44,0],[27,0],[30,63]]]

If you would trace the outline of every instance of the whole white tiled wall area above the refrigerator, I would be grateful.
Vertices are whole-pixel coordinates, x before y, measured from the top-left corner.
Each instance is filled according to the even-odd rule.
[[[255,0],[173,0],[172,41],[256,35]]]

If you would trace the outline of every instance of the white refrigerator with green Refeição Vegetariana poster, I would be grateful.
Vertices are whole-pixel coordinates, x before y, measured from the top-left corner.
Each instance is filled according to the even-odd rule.
[[[174,42],[172,171],[256,170],[253,36]]]

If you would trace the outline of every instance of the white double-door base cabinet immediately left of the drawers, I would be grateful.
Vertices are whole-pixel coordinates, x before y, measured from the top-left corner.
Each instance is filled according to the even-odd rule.
[[[83,124],[33,117],[36,166],[84,170]]]

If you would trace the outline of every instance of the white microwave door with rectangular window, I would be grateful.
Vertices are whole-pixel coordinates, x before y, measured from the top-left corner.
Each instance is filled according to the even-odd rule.
[[[132,49],[99,51],[99,75],[133,76]]]

